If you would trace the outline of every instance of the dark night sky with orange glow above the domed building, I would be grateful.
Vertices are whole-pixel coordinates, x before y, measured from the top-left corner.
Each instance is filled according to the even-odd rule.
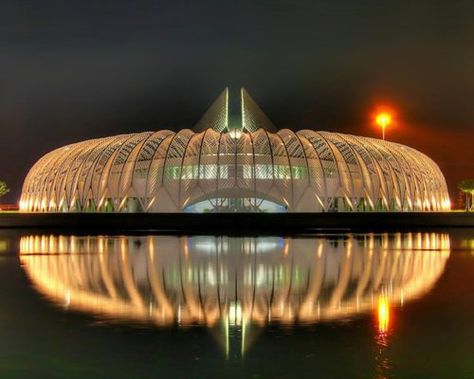
[[[64,144],[192,127],[230,86],[280,128],[377,137],[474,177],[474,1],[0,0],[0,179]]]

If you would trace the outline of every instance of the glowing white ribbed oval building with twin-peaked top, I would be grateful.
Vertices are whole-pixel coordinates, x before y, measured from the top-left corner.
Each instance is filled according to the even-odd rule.
[[[341,133],[278,130],[249,94],[229,92],[193,130],[99,138],[43,156],[27,212],[337,212],[450,208],[438,166],[407,146]]]

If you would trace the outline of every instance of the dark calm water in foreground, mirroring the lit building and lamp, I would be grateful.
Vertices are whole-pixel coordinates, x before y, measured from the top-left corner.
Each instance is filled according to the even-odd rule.
[[[473,378],[474,231],[0,232],[0,378]]]

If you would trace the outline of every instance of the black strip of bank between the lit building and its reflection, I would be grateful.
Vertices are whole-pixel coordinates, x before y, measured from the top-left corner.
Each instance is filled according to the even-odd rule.
[[[172,234],[305,234],[474,228],[474,213],[0,213],[0,228]]]

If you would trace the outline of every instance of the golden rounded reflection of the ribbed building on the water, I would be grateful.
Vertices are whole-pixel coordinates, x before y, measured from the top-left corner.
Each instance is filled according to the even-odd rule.
[[[157,325],[263,325],[389,312],[433,286],[449,237],[43,235],[23,237],[20,250],[38,291],[73,310]]]

